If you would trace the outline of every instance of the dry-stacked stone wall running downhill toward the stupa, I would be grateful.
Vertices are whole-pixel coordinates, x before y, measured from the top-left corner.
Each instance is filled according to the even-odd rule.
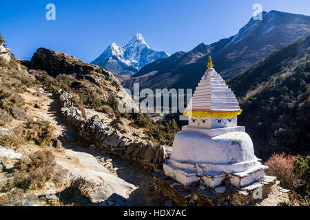
[[[85,119],[79,109],[71,102],[72,96],[59,89],[54,93],[61,106],[63,119],[79,133],[85,142],[94,144],[106,153],[138,162],[145,168],[159,171],[167,158],[167,146],[153,146],[143,142],[134,142],[116,129],[102,123],[99,116]]]

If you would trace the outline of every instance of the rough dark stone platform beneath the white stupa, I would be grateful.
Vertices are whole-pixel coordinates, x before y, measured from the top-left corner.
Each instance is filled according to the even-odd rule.
[[[175,179],[162,173],[153,173],[154,190],[166,199],[173,201],[173,206],[285,206],[289,202],[289,190],[279,186],[276,177],[264,176],[249,186],[236,188],[230,185],[218,188],[204,186],[183,186]],[[276,200],[276,201],[275,201]]]

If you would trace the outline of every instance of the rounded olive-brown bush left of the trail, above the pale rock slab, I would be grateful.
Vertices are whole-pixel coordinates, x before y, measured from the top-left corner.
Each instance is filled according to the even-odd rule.
[[[44,120],[28,121],[25,123],[25,140],[34,142],[39,146],[46,146],[54,140],[54,127],[50,126],[50,122]]]

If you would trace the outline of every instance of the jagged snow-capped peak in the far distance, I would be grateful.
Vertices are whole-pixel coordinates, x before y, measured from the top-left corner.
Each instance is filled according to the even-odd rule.
[[[156,52],[147,45],[142,34],[136,34],[125,47],[111,43],[107,49],[92,64],[99,65],[110,71],[121,80],[129,78],[138,72],[138,69],[156,61],[158,58],[167,58],[167,52]]]

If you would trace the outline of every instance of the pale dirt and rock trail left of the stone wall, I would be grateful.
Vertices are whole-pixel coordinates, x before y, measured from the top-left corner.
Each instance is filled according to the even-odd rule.
[[[57,163],[67,169],[73,175],[82,175],[86,179],[92,179],[101,184],[101,188],[96,189],[94,199],[109,200],[112,197],[123,197],[126,204],[130,206],[156,206],[158,203],[146,197],[144,188],[153,179],[152,173],[135,166],[131,162],[107,155],[82,146],[74,129],[70,128],[61,118],[59,105],[52,98],[52,94],[42,93],[41,98],[30,94],[24,94],[23,98],[28,102],[41,103],[40,109],[28,109],[28,112],[38,115],[39,118],[47,120],[55,127],[55,135],[63,133],[69,134],[76,141],[62,142],[65,154],[56,153]],[[110,197],[110,198],[107,198]],[[113,198],[112,198],[113,199]],[[124,204],[123,204],[124,205]]]

